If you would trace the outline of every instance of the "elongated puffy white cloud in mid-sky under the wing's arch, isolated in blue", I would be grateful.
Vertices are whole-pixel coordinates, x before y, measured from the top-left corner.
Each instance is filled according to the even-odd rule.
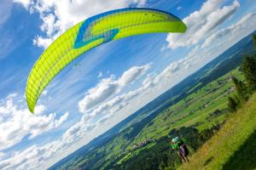
[[[150,68],[150,65],[134,66],[119,77],[114,76],[102,79],[95,88],[90,88],[85,94],[84,99],[79,101],[79,111],[85,113],[93,109],[96,105],[101,104],[118,94],[126,85],[131,84],[138,78],[142,77]]]

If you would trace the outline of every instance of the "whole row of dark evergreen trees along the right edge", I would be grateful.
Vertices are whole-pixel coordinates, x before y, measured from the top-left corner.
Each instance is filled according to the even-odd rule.
[[[230,112],[235,112],[256,91],[256,34],[253,34],[253,54],[244,55],[241,63],[241,72],[245,81],[232,76],[232,82],[236,88],[236,94],[230,96],[228,107]]]

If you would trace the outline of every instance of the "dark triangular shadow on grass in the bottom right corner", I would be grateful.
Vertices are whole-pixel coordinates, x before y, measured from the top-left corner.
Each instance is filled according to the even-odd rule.
[[[247,169],[253,170],[256,167],[256,131],[235,151],[230,160],[224,164],[226,169]]]

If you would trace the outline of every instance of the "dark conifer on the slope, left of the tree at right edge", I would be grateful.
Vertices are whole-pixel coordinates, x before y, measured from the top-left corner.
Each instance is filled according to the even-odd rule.
[[[232,77],[232,81],[236,87],[236,94],[240,102],[247,101],[247,99],[249,99],[247,85],[244,82],[241,82],[240,80],[238,80],[236,77]]]

